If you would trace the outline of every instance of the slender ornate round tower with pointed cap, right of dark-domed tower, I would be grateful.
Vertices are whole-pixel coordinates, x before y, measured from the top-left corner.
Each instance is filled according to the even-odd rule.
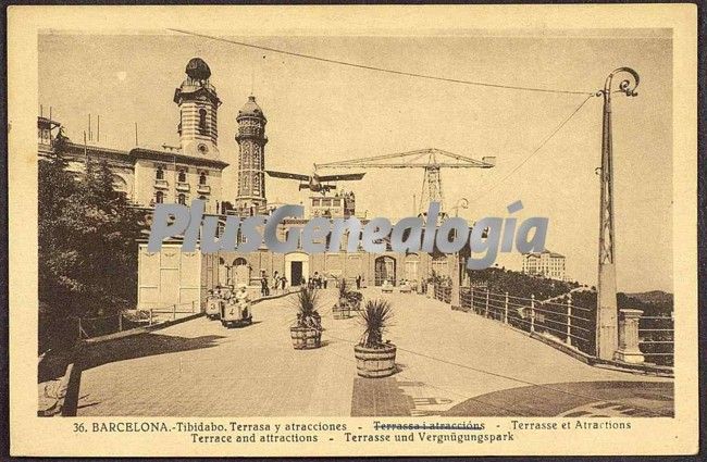
[[[256,97],[238,111],[238,192],[235,207],[257,212],[268,202],[265,199],[265,124],[268,120],[256,102]]]

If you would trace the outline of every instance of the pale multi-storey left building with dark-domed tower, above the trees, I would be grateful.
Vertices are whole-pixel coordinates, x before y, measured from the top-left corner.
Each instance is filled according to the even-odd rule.
[[[175,90],[174,102],[179,108],[179,147],[163,145],[161,149],[135,147],[131,150],[100,146],[98,140],[69,141],[64,157],[69,170],[83,172],[89,161],[106,161],[113,172],[116,189],[137,207],[156,203],[188,204],[194,199],[206,201],[208,213],[222,210],[223,170],[228,164],[220,159],[218,148],[218,109],[221,104],[215,87],[210,83],[211,71],[199,58],[186,66],[186,79]],[[61,124],[38,117],[39,158],[51,155]]]

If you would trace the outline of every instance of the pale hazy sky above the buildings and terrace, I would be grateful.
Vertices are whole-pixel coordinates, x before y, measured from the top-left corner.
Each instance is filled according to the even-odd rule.
[[[208,33],[207,33],[208,34]],[[225,36],[221,34],[221,36]],[[672,291],[672,40],[662,30],[474,33],[438,36],[231,38],[404,72],[510,86],[596,91],[615,68],[641,76],[636,98],[613,96],[617,279],[620,291]],[[202,58],[223,101],[219,110],[224,199],[236,193],[236,114],[252,92],[268,117],[265,165],[309,174],[314,163],[438,148],[494,168],[442,172],[447,209],[470,202],[470,222],[549,217],[546,247],[567,257],[572,279],[596,284],[601,98],[469,86],[317,62],[178,34],[39,38],[39,101],[45,115],[80,141],[100,114],[101,145],[178,145],[174,89],[189,59]],[[39,109],[38,109],[39,111]],[[94,132],[96,127],[94,126]],[[531,155],[532,154],[532,155]],[[531,155],[529,158],[529,155]],[[350,173],[350,171],[344,171]],[[422,170],[370,170],[339,184],[357,209],[392,221],[412,214]],[[299,203],[297,183],[266,178],[268,199]],[[520,269],[520,255],[499,254]]]

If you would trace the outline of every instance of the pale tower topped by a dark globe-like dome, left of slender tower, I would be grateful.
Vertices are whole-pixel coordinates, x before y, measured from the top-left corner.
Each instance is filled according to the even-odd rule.
[[[174,102],[179,107],[177,133],[182,153],[218,159],[216,113],[221,100],[209,82],[211,70],[202,59],[193,58],[185,72],[187,78],[174,90]]]

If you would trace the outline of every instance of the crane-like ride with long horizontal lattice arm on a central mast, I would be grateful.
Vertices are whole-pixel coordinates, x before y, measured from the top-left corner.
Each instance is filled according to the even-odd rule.
[[[420,209],[430,202],[439,202],[441,216],[444,214],[444,193],[442,190],[442,168],[491,168],[496,158],[484,157],[482,160],[455,154],[441,149],[429,148],[394,154],[373,155],[338,162],[314,164],[318,168],[423,168],[422,195]],[[420,210],[422,212],[422,210]]]

